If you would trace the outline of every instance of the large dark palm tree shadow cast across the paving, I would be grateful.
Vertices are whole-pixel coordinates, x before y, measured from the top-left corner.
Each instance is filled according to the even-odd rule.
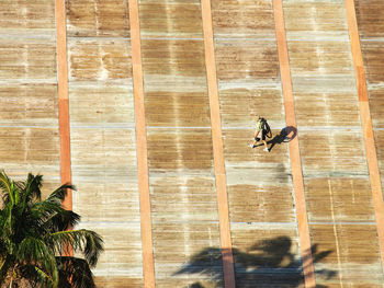
[[[301,258],[291,252],[292,241],[287,237],[262,240],[246,251],[233,249],[235,261],[236,286],[255,287],[300,287],[304,284]],[[318,245],[312,246],[313,262],[319,262],[332,251],[318,252]],[[309,252],[305,258],[309,257]],[[315,272],[330,279],[337,275],[329,269]],[[174,275],[200,274],[211,278],[215,287],[224,287],[222,251],[218,247],[206,247],[194,254]],[[202,283],[194,283],[190,288],[204,288]],[[317,288],[326,287],[317,285]]]

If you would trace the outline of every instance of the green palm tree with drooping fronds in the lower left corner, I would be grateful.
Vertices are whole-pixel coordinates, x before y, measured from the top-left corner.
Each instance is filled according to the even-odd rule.
[[[101,237],[90,230],[71,230],[80,216],[61,207],[65,184],[42,200],[42,175],[12,181],[0,172],[0,283],[21,287],[95,287],[90,267],[103,251]],[[79,252],[83,258],[70,255]],[[21,285],[21,286],[20,286]]]

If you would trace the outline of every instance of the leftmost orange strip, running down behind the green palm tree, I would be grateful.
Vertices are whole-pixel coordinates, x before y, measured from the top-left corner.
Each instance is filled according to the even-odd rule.
[[[60,138],[60,175],[61,184],[64,184],[71,183],[67,27],[65,0],[56,0],[55,15],[57,43],[58,122]],[[70,191],[68,191],[67,197],[63,201],[63,207],[68,210],[72,209],[72,194]]]

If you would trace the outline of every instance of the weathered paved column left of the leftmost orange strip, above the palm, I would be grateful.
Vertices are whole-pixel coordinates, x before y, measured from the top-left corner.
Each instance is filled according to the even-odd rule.
[[[10,176],[60,184],[54,3],[0,2],[0,162]]]

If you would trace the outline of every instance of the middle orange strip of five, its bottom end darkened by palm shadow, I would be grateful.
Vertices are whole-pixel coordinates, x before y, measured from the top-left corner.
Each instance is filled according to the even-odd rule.
[[[223,256],[224,283],[226,288],[235,288],[234,255],[230,240],[229,208],[227,184],[224,164],[222,139],[222,123],[219,114],[215,48],[213,43],[213,26],[211,1],[202,0],[202,20],[204,30],[205,67],[208,85],[212,141],[217,191],[218,220],[221,231],[221,246]]]

